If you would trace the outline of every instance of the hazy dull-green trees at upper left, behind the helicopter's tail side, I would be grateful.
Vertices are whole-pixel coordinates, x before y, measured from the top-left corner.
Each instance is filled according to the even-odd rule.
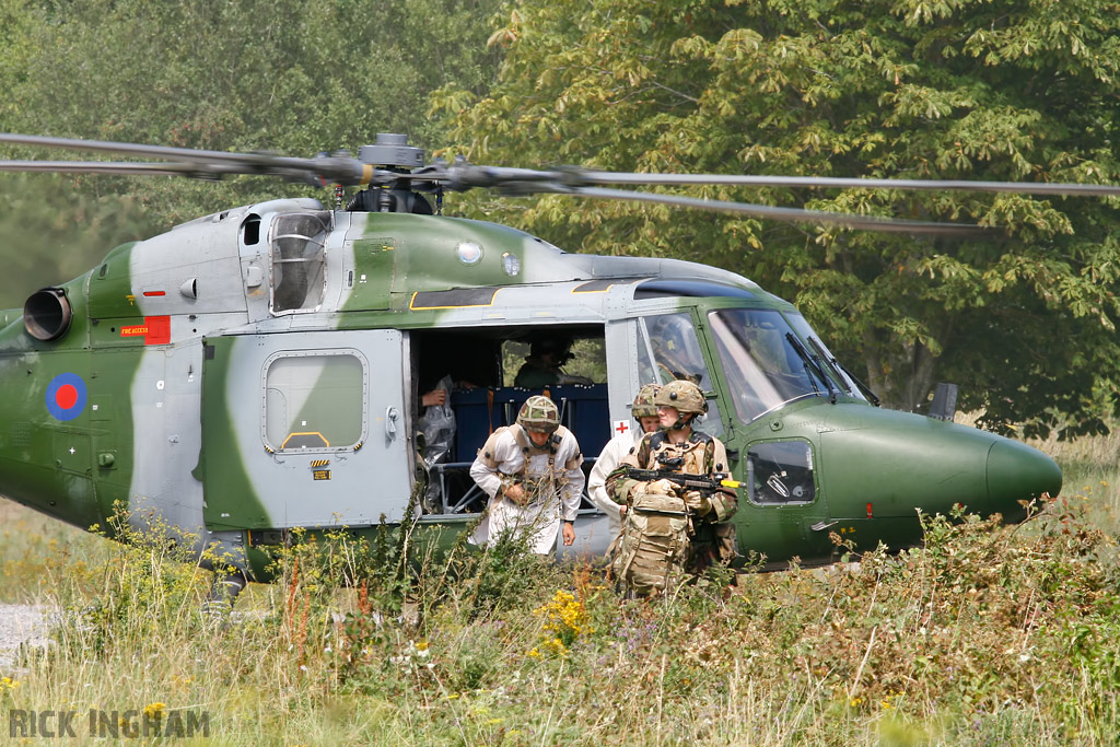
[[[211,150],[312,156],[408,133],[435,147],[446,125],[428,92],[485,90],[496,0],[0,2],[0,131]],[[4,149],[2,158],[95,159]],[[218,209],[314,194],[244,178],[48,177],[0,181],[0,306],[94,265],[110,249]],[[320,199],[332,195],[321,190]]]

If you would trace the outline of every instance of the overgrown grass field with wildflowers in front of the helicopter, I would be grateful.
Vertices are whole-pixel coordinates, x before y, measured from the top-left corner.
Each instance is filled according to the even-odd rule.
[[[73,709],[67,744],[90,709],[168,744],[1116,744],[1120,440],[1042,446],[1066,487],[1027,524],[935,519],[922,549],[653,604],[514,548],[404,572],[334,536],[204,615],[206,575],[158,538],[6,503],[0,600],[63,614],[0,711]]]

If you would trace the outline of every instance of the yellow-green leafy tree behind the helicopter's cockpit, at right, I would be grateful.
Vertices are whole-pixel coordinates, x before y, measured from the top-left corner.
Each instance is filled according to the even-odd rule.
[[[1109,3],[521,0],[491,93],[460,110],[474,160],[636,171],[1120,180],[1120,13]],[[1116,200],[707,187],[703,197],[977,222],[884,236],[662,206],[476,214],[572,250],[671,255],[793,300],[893,407],[939,380],[999,429],[1095,432],[1117,412]],[[1076,339],[1072,345],[1070,340]]]

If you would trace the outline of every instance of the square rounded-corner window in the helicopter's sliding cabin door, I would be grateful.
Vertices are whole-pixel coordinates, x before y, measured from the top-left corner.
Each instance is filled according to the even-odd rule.
[[[351,349],[277,353],[264,364],[264,442],[272,451],[351,449],[366,430],[368,366]]]

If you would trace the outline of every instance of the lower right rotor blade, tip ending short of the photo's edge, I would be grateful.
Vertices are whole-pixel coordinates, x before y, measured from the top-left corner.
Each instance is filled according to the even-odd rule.
[[[906,221],[872,215],[849,215],[844,213],[828,213],[824,211],[805,211],[795,207],[774,207],[772,205],[754,205],[750,203],[731,203],[719,199],[701,199],[698,197],[683,197],[681,195],[663,195],[650,192],[631,192],[627,189],[606,189],[603,187],[573,187],[567,188],[557,186],[554,189],[547,188],[547,185],[532,185],[526,187],[532,192],[552,192],[564,195],[578,195],[581,197],[595,197],[599,199],[619,199],[641,203],[660,203],[663,205],[674,205],[678,207],[691,207],[702,211],[717,211],[720,213],[737,213],[740,215],[753,215],[772,221],[784,221],[786,223],[814,223],[818,225],[837,225],[849,228],[866,228],[880,233],[908,233],[908,234],[933,234],[946,236],[978,235],[986,230],[978,225],[961,223],[931,223],[924,221]]]

